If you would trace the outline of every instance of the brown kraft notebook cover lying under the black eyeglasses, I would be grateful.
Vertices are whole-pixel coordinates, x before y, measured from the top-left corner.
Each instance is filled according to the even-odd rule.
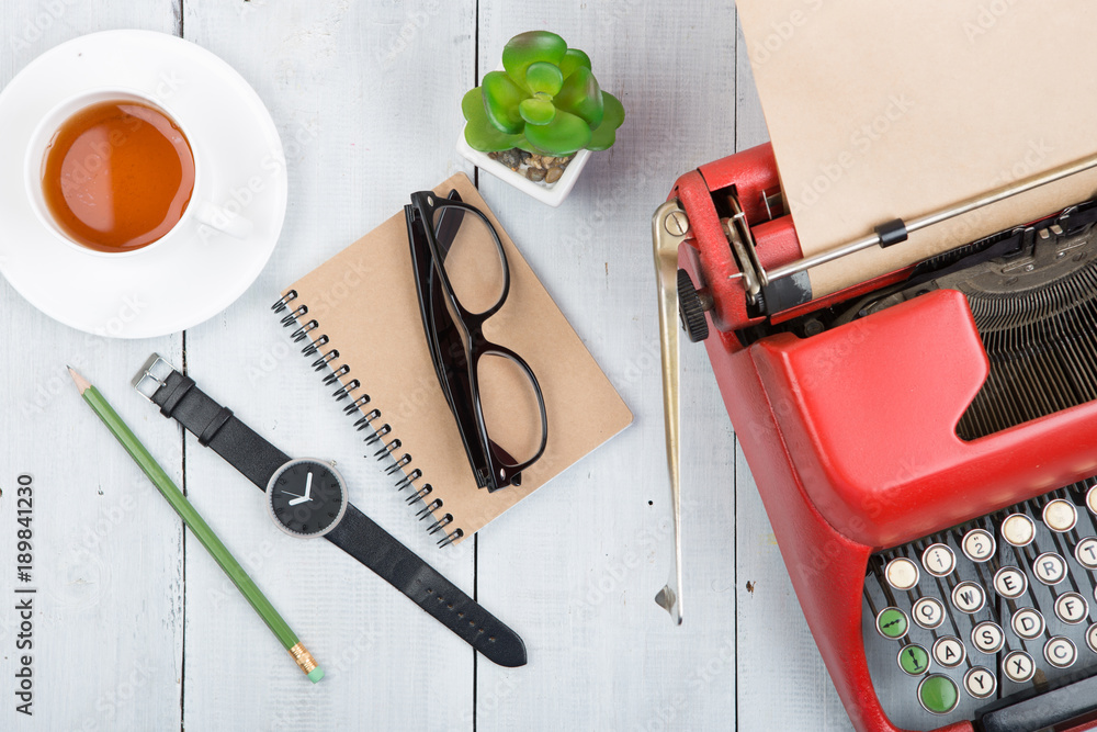
[[[521,486],[495,493],[476,486],[427,348],[403,212],[287,288],[274,306],[346,402],[348,428],[365,435],[365,454],[388,462],[394,493],[417,504],[440,545],[467,539],[632,423],[472,181],[457,173],[434,192],[452,189],[490,218],[510,264],[510,295],[485,324],[486,335],[520,353],[544,393],[548,442]]]

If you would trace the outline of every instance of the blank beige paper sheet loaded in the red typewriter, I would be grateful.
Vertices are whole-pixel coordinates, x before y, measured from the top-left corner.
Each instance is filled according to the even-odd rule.
[[[1097,153],[1097,4],[738,0],[805,256]],[[811,271],[814,296],[1097,192],[1097,172]]]

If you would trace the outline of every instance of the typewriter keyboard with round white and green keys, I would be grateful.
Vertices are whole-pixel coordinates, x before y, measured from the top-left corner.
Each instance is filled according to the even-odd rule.
[[[873,685],[906,729],[1097,673],[1097,478],[874,554],[863,607]]]

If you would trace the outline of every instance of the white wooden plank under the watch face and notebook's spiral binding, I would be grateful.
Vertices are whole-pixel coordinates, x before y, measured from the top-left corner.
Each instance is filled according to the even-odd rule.
[[[283,450],[335,459],[352,503],[471,593],[472,544],[433,548],[269,307],[410,192],[462,168],[455,94],[472,77],[473,4],[188,0],[185,11],[185,36],[228,60],[270,108],[291,191],[258,283],[188,334],[190,374]],[[257,582],[328,672],[312,687],[220,571],[188,551],[189,730],[472,727],[464,642],[328,542],[281,533],[262,494],[190,439],[186,469],[194,503],[253,560]]]

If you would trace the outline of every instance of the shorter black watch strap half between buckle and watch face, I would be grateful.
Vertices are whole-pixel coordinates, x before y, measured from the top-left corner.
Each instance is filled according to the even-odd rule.
[[[214,402],[190,376],[172,370],[151,396],[165,417],[174,417],[199,443],[208,447],[263,491],[285,454]]]

